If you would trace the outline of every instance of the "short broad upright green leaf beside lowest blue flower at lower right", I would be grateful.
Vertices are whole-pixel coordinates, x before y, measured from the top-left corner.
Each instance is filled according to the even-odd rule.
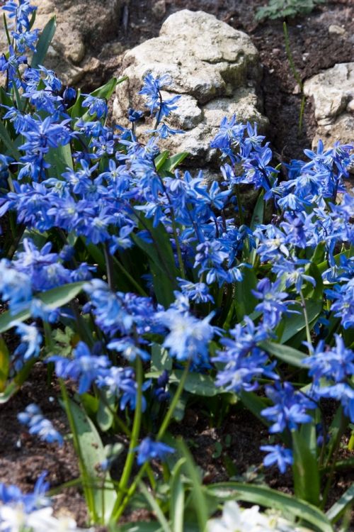
[[[317,458],[312,454],[310,443],[297,431],[292,431],[292,448],[295,495],[318,506],[320,481]]]

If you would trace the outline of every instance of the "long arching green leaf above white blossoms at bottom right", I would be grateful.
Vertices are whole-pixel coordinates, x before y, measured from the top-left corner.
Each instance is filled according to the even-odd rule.
[[[254,486],[241,482],[220,482],[211,484],[207,489],[220,499],[234,499],[251,504],[260,504],[265,508],[280,510],[285,516],[290,513],[299,519],[304,519],[307,523],[315,526],[319,532],[333,532],[329,519],[316,506],[267,486]]]

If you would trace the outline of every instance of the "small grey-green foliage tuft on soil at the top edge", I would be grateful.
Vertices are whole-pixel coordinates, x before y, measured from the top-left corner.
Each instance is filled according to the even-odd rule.
[[[268,5],[260,7],[256,13],[256,20],[265,18],[291,18],[298,15],[308,15],[317,4],[323,4],[325,0],[269,0]]]

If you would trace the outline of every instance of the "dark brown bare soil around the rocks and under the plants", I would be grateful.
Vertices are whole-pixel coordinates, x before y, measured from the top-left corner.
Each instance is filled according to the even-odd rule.
[[[178,9],[203,10],[214,14],[236,29],[246,31],[258,48],[263,62],[262,92],[264,113],[270,120],[268,138],[275,156],[282,160],[302,157],[302,150],[309,148],[314,137],[315,122],[312,102],[307,101],[304,122],[299,133],[299,109],[301,95],[290,70],[285,53],[282,21],[256,23],[254,13],[261,0],[166,0],[161,2],[160,16],[155,4],[158,0],[130,0],[129,9],[123,12],[122,24],[116,40],[125,48],[132,48],[143,40],[159,33],[164,18]],[[162,4],[162,8],[161,8]],[[164,7],[165,6],[165,7]],[[155,14],[154,14],[155,13]],[[343,35],[329,33],[329,26],[343,27]],[[354,5],[352,0],[337,0],[319,6],[310,15],[287,21],[290,46],[295,65],[304,82],[337,62],[354,60]],[[101,53],[105,62],[107,78],[119,73],[122,55],[108,58],[107,50]],[[86,89],[105,80],[92,80]],[[0,406],[0,482],[17,484],[24,491],[33,485],[42,470],[48,471],[51,487],[79,476],[77,460],[72,444],[67,441],[62,448],[41,443],[38,438],[28,436],[17,421],[17,414],[30,402],[40,404],[43,414],[53,421],[63,433],[68,431],[65,416],[58,404],[59,391],[55,382],[47,383],[47,370],[41,363],[33,371],[18,394],[7,404]],[[259,445],[266,437],[266,431],[256,419],[252,419],[241,407],[219,428],[209,428],[206,419],[197,410],[187,412],[182,426],[174,426],[173,433],[182,433],[190,444],[195,460],[205,470],[205,482],[225,480],[230,462],[234,475],[257,475],[250,470],[261,462]],[[230,438],[231,440],[230,440]],[[218,443],[222,450],[218,451]],[[267,473],[266,480],[271,487],[290,492],[291,481],[287,475],[279,477],[274,471]],[[341,473],[336,477],[333,499],[338,499],[353,475]],[[63,489],[55,496],[55,508],[72,513],[80,526],[86,523],[84,499],[77,489]],[[126,519],[148,519],[149,513],[130,515]]]

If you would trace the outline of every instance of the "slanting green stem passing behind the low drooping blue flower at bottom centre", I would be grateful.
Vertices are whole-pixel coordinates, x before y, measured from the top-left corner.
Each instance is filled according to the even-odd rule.
[[[179,401],[179,399],[181,397],[181,394],[183,392],[185,379],[187,378],[188,372],[189,372],[189,367],[190,367],[190,360],[188,360],[188,363],[187,363],[187,365],[184,368],[181,380],[178,383],[178,387],[176,389],[176,394],[174,394],[174,396],[173,396],[173,399],[171,401],[169,410],[166,412],[166,416],[164,417],[164,421],[162,421],[160,430],[157,433],[156,441],[161,440],[161,438],[164,437],[164,433],[166,432],[166,430],[167,430],[167,428],[169,426],[169,422],[171,421],[171,417],[173,415],[173,411],[176,409],[178,401]],[[142,467],[140,468],[137,476],[135,477],[134,481],[130,485],[130,488],[127,491],[127,495],[126,495],[125,499],[122,501],[122,504],[120,504],[120,506],[118,506],[118,504],[115,504],[115,507],[114,507],[113,512],[112,512],[112,519],[113,519],[113,521],[115,523],[118,521],[118,519],[120,519],[120,516],[122,516],[123,511],[125,511],[125,508],[127,507],[127,504],[129,503],[130,499],[132,498],[133,494],[135,493],[135,490],[137,489],[140,480],[142,480],[144,472],[146,472],[148,466],[149,466],[149,462],[145,462],[144,465],[142,465]]]

